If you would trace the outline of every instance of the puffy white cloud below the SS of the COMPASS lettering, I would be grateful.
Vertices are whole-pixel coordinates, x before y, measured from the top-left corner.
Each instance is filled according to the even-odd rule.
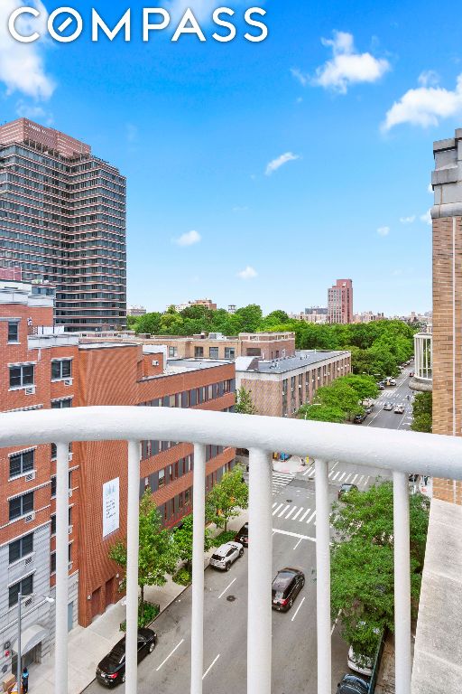
[[[312,83],[319,87],[347,94],[351,84],[375,82],[391,70],[390,63],[384,58],[356,52],[351,33],[334,32],[333,39],[321,39],[321,42],[332,49],[332,59],[316,70]]]

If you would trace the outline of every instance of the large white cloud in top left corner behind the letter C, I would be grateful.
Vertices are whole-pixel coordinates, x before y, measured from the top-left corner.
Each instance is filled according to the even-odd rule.
[[[0,2],[0,82],[6,86],[6,93],[22,92],[27,97],[48,99],[55,84],[43,65],[44,39],[35,43],[14,41],[7,28],[8,17],[17,7],[23,6],[22,0],[1,0]],[[40,18],[23,14],[16,22],[21,33],[45,33],[48,17],[42,0],[29,0],[28,6],[35,7]]]

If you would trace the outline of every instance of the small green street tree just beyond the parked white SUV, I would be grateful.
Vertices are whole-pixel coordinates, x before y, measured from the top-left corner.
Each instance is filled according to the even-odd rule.
[[[206,518],[214,522],[217,528],[227,530],[227,524],[239,515],[241,509],[246,509],[249,503],[249,490],[243,481],[240,465],[225,473],[221,482],[217,483],[206,499]]]

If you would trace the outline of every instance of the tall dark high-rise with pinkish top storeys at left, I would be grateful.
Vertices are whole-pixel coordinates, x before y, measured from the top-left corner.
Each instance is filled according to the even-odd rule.
[[[26,118],[0,126],[0,265],[56,286],[67,331],[125,324],[125,177]]]

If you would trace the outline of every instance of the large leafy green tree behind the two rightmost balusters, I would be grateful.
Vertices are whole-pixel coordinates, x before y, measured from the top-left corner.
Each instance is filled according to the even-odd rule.
[[[410,497],[411,602],[415,614],[429,523],[430,501]],[[377,483],[366,492],[349,492],[334,507],[337,530],[331,548],[331,609],[341,612],[344,638],[370,657],[377,633],[393,632],[393,484]]]

